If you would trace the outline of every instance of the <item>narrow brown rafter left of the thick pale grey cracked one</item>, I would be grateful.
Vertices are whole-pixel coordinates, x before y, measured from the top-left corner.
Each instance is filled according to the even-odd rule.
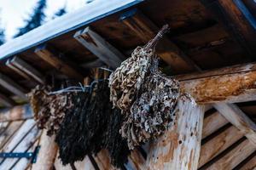
[[[83,80],[83,76],[78,71],[76,71],[73,67],[67,65],[67,63],[62,61],[46,45],[36,48],[35,53],[38,54],[38,56],[41,59],[44,59],[44,61],[49,63],[49,65],[55,67],[56,70],[61,71],[63,74],[67,75],[67,77]]]

